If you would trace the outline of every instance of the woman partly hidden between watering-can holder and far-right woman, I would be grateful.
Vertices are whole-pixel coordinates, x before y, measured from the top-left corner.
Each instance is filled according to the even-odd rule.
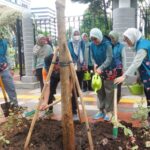
[[[115,31],[109,33],[109,37],[112,43],[113,60],[111,63],[112,79],[122,75],[126,69],[126,53],[125,47],[119,42],[119,34]],[[121,84],[117,85],[117,101],[121,98]]]

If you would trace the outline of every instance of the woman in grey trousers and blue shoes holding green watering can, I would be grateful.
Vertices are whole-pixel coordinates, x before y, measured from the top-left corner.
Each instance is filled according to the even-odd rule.
[[[91,53],[94,70],[102,78],[102,88],[97,91],[99,112],[94,115],[94,119],[103,118],[105,121],[110,121],[113,111],[113,81],[107,76],[107,68],[112,61],[112,46],[111,42],[103,37],[101,30],[93,28],[90,31],[91,38]]]

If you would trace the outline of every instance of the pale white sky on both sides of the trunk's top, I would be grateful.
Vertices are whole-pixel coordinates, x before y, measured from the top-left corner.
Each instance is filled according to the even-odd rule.
[[[49,6],[55,9],[55,0],[31,0],[31,7],[45,7]],[[87,4],[73,3],[71,0],[66,0],[66,16],[78,16],[82,15],[86,8]]]

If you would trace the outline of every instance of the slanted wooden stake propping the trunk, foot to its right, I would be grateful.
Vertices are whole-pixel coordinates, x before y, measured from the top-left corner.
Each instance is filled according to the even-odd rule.
[[[66,45],[64,45],[64,47],[65,47],[65,49],[67,51],[67,57],[69,58],[70,61],[72,61],[69,49],[67,48]],[[80,88],[80,85],[79,85],[79,81],[77,79],[77,75],[76,75],[73,63],[70,63],[70,71],[71,71],[71,77],[73,78],[73,80],[76,83],[77,91],[79,93],[79,97],[80,97],[80,100],[81,100],[82,110],[83,110],[83,114],[84,114],[84,117],[85,117],[85,124],[86,124],[86,128],[87,128],[87,134],[88,134],[88,140],[89,140],[90,150],[94,150],[94,145],[93,145],[93,139],[92,139],[92,135],[91,135],[91,130],[90,130],[90,126],[89,126],[89,122],[88,122],[88,118],[87,118],[87,113],[86,113],[84,102],[83,102],[83,95],[82,95],[82,92],[81,92],[81,88]]]

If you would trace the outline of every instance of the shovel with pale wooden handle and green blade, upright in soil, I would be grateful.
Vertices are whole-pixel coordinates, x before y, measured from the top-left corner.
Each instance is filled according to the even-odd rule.
[[[118,137],[118,115],[117,115],[117,85],[114,84],[114,125],[113,125],[113,138]]]

